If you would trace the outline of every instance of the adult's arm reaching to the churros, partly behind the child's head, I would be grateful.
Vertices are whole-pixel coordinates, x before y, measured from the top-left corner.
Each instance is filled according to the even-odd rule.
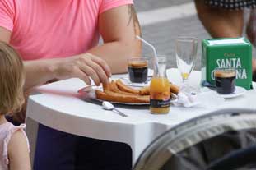
[[[0,27],[0,41],[9,43],[11,32]],[[84,80],[90,85],[91,80],[96,85],[100,82],[107,83],[111,75],[108,64],[100,57],[85,53],[67,58],[42,59],[24,62],[26,71],[25,90],[36,85],[42,85],[53,79],[67,79],[72,77]]]

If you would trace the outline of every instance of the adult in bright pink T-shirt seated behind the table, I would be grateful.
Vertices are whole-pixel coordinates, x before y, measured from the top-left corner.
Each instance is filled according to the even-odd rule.
[[[128,57],[140,55],[136,34],[133,0],[0,1],[0,40],[21,53],[26,90],[71,77],[108,83],[111,74],[127,71]],[[35,170],[126,170],[131,163],[128,146],[39,127]]]

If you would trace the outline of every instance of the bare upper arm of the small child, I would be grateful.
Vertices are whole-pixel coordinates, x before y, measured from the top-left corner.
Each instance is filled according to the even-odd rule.
[[[30,154],[23,131],[14,132],[8,144],[10,170],[30,170]]]

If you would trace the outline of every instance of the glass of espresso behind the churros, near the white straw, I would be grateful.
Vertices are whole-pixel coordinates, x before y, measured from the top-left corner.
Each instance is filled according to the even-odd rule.
[[[132,83],[147,81],[148,61],[146,57],[132,57],[128,59],[128,75]]]

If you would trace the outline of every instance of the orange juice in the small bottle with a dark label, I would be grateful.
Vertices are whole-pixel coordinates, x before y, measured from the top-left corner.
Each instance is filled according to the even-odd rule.
[[[154,76],[150,85],[150,112],[166,114],[170,111],[170,83],[166,77]]]

